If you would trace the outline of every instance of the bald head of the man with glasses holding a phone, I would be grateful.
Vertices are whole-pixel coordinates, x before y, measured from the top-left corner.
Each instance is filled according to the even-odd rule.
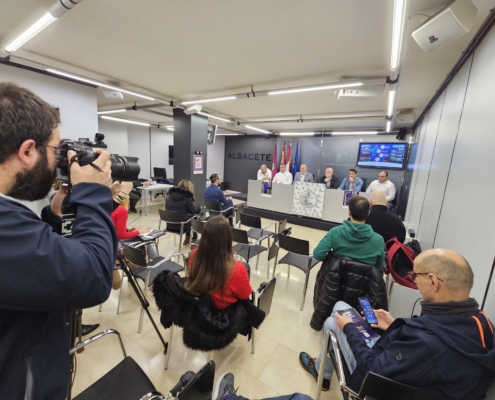
[[[467,260],[455,251],[448,249],[426,250],[416,257],[414,267],[417,273],[435,274],[443,280],[445,289],[450,293],[469,295],[473,287],[473,270]]]

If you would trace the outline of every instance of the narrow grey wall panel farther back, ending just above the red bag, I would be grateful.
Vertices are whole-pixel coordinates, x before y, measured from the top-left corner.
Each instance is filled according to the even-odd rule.
[[[445,92],[438,98],[431,108],[428,116],[428,122],[424,131],[424,140],[421,146],[420,156],[418,159],[418,170],[416,172],[415,187],[412,193],[412,202],[407,218],[407,228],[418,231],[419,221],[423,207],[425,206],[426,189],[428,186],[428,177],[433,158],[433,150],[438,134],[438,127],[442,115],[443,101]],[[413,178],[414,179],[414,178]],[[419,238],[421,242],[421,238]]]

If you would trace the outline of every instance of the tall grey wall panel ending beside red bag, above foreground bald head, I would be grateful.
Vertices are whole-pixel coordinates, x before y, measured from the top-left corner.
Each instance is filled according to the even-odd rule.
[[[470,71],[471,60],[455,76],[445,94],[418,226],[418,238],[423,250],[431,249],[435,241]]]

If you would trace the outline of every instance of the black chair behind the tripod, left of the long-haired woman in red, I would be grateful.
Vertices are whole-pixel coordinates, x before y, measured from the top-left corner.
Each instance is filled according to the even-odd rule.
[[[153,259],[153,261],[148,263],[146,262],[146,258],[143,252],[139,248],[127,246],[126,244],[122,244],[122,248],[126,260],[130,261],[135,266],[139,267],[137,269],[131,269],[131,271],[136,278],[139,278],[144,282],[145,299],[146,299],[146,294],[148,293],[148,287],[153,285],[155,278],[160,272],[162,271],[180,272],[185,270],[185,263],[186,263],[185,254],[175,253],[167,258],[158,256],[155,259]],[[172,261],[172,258],[177,256],[182,256],[184,267]],[[141,308],[138,333],[141,333],[143,327],[143,315],[144,315],[144,308]]]

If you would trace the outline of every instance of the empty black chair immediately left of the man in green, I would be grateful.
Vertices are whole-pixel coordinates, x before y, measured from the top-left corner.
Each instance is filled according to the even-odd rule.
[[[309,254],[309,241],[307,240],[297,239],[291,236],[280,234],[278,236],[278,246],[279,248],[286,250],[287,254],[283,256],[280,261],[277,262],[277,253],[275,264],[273,266],[273,276],[275,276],[277,264],[289,265],[287,268],[287,278],[290,278],[291,265],[300,269],[306,274],[306,279],[304,280],[303,294],[301,298],[300,310],[302,311],[304,308],[304,301],[306,299],[306,291],[308,289],[309,274],[315,267],[315,265],[318,264],[320,261],[318,261],[316,258],[313,258],[313,256]]]

